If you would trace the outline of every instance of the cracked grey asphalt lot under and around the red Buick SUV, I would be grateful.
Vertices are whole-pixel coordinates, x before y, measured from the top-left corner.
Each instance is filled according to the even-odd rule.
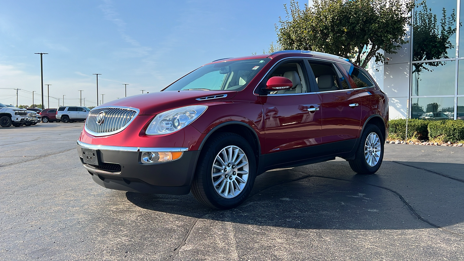
[[[375,175],[268,171],[236,209],[104,189],[82,123],[0,129],[0,260],[464,260],[464,149],[386,144]]]

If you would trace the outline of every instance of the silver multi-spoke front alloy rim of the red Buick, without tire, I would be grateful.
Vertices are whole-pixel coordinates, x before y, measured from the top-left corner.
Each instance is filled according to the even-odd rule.
[[[214,159],[211,172],[216,192],[225,198],[236,197],[248,181],[248,158],[237,146],[227,146]]]

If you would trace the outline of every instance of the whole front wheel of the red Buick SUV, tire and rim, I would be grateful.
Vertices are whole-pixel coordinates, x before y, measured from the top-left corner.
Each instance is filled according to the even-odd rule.
[[[202,149],[192,194],[208,207],[235,208],[250,195],[255,176],[255,153],[245,138],[235,133],[219,133]]]

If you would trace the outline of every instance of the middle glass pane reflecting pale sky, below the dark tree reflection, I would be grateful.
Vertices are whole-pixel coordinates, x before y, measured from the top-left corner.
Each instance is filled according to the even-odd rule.
[[[454,95],[454,76],[456,61],[439,62],[441,65],[429,66],[432,63],[412,64],[414,68],[420,65],[428,70],[416,70],[412,73],[412,96],[424,95]]]

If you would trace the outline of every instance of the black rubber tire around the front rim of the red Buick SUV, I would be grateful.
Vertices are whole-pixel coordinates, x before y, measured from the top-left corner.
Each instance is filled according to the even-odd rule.
[[[239,194],[232,198],[220,196],[213,185],[213,163],[219,152],[227,146],[237,146],[248,158],[248,179]],[[235,173],[235,172],[234,172]],[[234,174],[235,175],[235,174]],[[232,209],[240,205],[250,195],[256,177],[256,158],[245,138],[235,133],[213,134],[203,146],[198,159],[192,183],[192,194],[202,204],[215,209]]]

